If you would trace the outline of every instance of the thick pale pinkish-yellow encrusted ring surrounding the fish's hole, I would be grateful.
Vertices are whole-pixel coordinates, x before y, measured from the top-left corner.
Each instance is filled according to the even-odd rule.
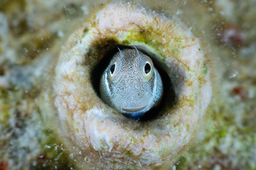
[[[141,46],[158,56],[172,80],[177,104],[141,123],[102,103],[90,76],[111,41]],[[179,21],[136,4],[104,5],[70,36],[56,66],[60,134],[70,150],[81,150],[79,164],[88,167],[139,169],[175,161],[200,131],[210,99],[209,69],[198,39]]]

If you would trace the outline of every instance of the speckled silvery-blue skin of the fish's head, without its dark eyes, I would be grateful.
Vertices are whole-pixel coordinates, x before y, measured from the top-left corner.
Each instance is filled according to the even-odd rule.
[[[150,64],[145,73],[145,64]],[[113,76],[110,67],[115,64]],[[161,76],[150,57],[137,49],[117,52],[100,81],[100,96],[105,103],[131,118],[140,118],[163,96]]]

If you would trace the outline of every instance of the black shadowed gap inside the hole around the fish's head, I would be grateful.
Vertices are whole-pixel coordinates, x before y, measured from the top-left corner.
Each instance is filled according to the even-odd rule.
[[[95,90],[97,96],[99,96],[99,97],[100,97],[100,78],[101,78],[104,70],[108,66],[109,62],[111,61],[112,57],[115,55],[116,52],[118,52],[117,47],[120,48],[120,50],[125,49],[125,48],[134,48],[131,46],[116,46],[115,48],[113,48],[113,50],[110,50],[108,53],[106,53],[104,55],[103,59],[100,60],[100,62],[97,64],[97,66],[95,66],[93,68],[92,74],[91,74],[92,85],[93,85],[93,89]],[[176,96],[175,96],[175,92],[173,90],[172,81],[170,80],[170,77],[168,76],[166,71],[164,71],[164,69],[162,69],[159,66],[158,62],[153,57],[151,57],[150,54],[148,54],[144,50],[140,50],[140,52],[145,53],[153,60],[154,67],[156,67],[156,69],[159,72],[159,74],[162,78],[162,81],[163,81],[163,97],[162,97],[160,103],[157,106],[148,110],[143,115],[143,117],[138,119],[138,121],[140,121],[140,122],[145,122],[147,120],[154,120],[157,117],[160,117],[161,115],[163,115],[164,111],[166,111],[166,108],[171,108],[175,104]]]

